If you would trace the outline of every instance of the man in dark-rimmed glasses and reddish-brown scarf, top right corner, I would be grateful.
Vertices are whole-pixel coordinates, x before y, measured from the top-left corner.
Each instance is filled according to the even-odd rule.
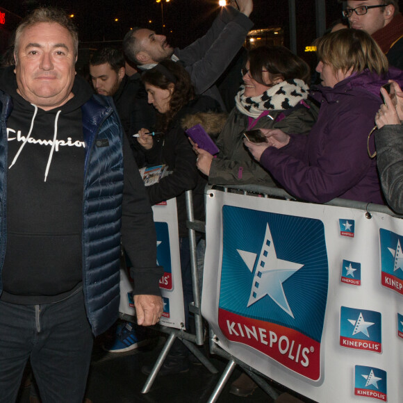
[[[367,31],[389,64],[403,69],[403,16],[398,0],[350,0],[343,10],[350,28]]]

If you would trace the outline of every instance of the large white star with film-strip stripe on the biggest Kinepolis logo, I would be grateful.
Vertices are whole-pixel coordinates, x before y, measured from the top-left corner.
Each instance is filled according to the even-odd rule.
[[[238,253],[247,265],[249,271],[252,273],[257,255],[242,250],[238,250]],[[251,306],[259,299],[265,297],[265,295],[269,295],[269,297],[272,298],[272,300],[283,309],[283,311],[294,318],[283,290],[283,282],[303,266],[304,265],[299,263],[283,261],[277,258],[272,234],[270,233],[269,224],[267,224],[265,239],[263,241],[261,254],[258,258],[258,264],[256,266],[247,306]]]

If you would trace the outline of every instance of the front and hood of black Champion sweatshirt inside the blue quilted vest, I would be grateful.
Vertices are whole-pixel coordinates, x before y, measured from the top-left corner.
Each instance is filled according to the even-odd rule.
[[[13,67],[0,70],[13,99],[8,118],[7,247],[1,299],[56,302],[82,281],[85,149],[81,106],[92,90],[76,77],[74,97],[42,110],[17,93]]]

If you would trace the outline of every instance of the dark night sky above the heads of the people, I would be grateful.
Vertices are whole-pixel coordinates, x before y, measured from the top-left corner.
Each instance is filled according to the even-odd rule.
[[[165,0],[163,0],[165,1]],[[337,0],[326,1],[327,24],[341,16]],[[400,1],[403,3],[403,0]],[[155,0],[1,0],[0,7],[24,16],[37,6],[60,6],[74,13],[81,42],[122,40],[133,26],[147,26],[161,33],[161,3]],[[165,32],[173,46],[184,47],[203,35],[219,8],[218,0],[170,0],[164,3]],[[297,53],[315,39],[315,0],[296,0]],[[401,8],[403,8],[401,6]],[[115,18],[119,21],[115,22]],[[152,23],[149,24],[149,19]],[[288,1],[254,0],[254,28],[283,26],[288,35]],[[10,21],[10,19],[8,19]],[[13,28],[13,27],[10,27]],[[172,33],[170,32],[172,30]],[[3,31],[0,31],[0,35]],[[284,43],[289,46],[288,41]]]

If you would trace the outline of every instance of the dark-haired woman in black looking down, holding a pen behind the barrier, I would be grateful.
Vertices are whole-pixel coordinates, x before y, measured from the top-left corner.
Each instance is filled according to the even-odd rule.
[[[190,272],[190,249],[186,228],[186,190],[193,193],[193,211],[197,220],[204,220],[204,186],[206,180],[196,167],[196,156],[181,127],[187,115],[209,110],[219,111],[217,101],[204,95],[195,96],[188,72],[172,60],[163,60],[142,75],[149,104],[158,111],[156,131],[162,135],[149,135],[148,129],[140,129],[138,144],[147,166],[165,164],[171,174],[158,183],[147,186],[151,204],[176,197],[179,224],[179,247],[182,271],[183,299],[186,328],[188,329],[188,306],[193,300]],[[174,343],[159,374],[183,372],[188,369],[188,349],[179,340]],[[147,366],[142,370],[151,371]]]

